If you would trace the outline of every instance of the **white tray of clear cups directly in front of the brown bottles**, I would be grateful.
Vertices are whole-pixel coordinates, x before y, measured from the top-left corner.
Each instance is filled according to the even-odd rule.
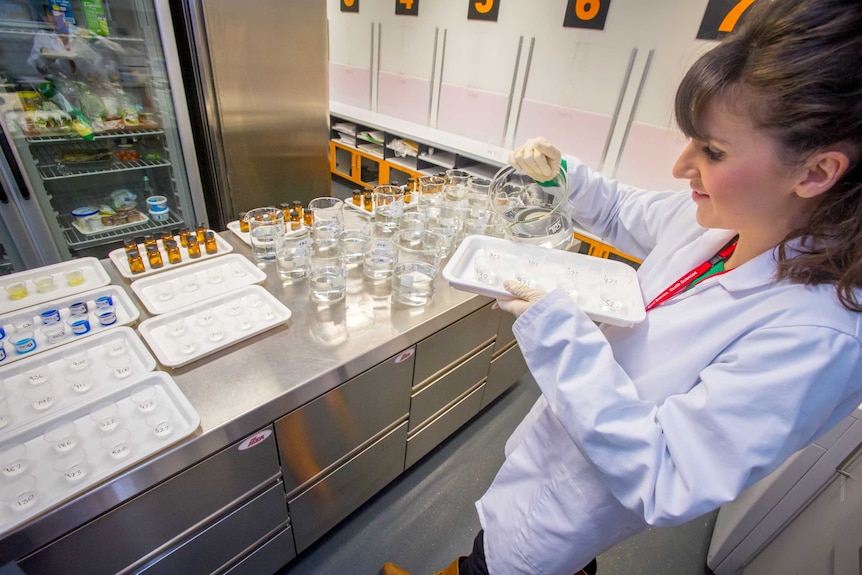
[[[194,289],[186,284],[194,278]],[[220,278],[217,280],[217,278]],[[194,266],[171,270],[154,277],[132,282],[132,291],[154,315],[190,306],[239,287],[260,283],[266,273],[240,254],[200,262]],[[160,297],[159,290],[170,286],[171,296]]]

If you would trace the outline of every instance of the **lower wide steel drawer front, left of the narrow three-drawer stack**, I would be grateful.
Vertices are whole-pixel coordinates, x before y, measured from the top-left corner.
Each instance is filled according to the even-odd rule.
[[[301,553],[404,470],[405,421],[298,497],[288,501]]]

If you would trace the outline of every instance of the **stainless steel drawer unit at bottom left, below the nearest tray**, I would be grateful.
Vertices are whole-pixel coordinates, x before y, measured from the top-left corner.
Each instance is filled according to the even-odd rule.
[[[266,428],[70,532],[19,565],[26,573],[64,575],[210,573],[241,560],[250,546],[287,527],[280,478],[275,437]],[[248,533],[238,535],[246,529]],[[292,545],[286,546],[278,560],[283,564],[294,554]]]

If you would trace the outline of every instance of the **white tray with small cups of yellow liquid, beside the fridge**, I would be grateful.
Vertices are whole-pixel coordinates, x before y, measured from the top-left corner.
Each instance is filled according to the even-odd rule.
[[[109,283],[111,278],[102,262],[89,257],[0,276],[0,314]]]

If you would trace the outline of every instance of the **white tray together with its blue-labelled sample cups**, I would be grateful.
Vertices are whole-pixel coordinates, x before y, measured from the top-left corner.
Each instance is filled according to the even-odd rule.
[[[0,367],[132,324],[140,315],[129,294],[115,285],[0,315],[5,332]]]

